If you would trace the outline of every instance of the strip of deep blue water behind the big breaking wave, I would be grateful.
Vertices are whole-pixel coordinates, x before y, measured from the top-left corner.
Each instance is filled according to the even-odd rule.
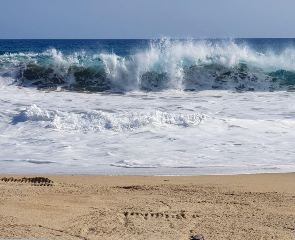
[[[55,48],[65,54],[88,50],[93,53],[106,52],[128,56],[138,50],[149,48],[151,41],[157,42],[160,39],[0,39],[0,54],[41,53]],[[187,39],[171,41],[185,42]],[[279,52],[295,47],[295,38],[191,39],[189,41],[204,41],[211,44],[232,41],[237,45],[247,44],[253,50],[264,53],[268,50]]]

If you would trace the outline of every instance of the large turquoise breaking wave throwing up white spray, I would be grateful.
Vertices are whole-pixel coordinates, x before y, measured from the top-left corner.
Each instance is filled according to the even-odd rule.
[[[19,86],[70,91],[159,91],[165,89],[293,90],[295,49],[257,52],[232,40],[151,40],[128,56],[90,53],[0,55],[0,76]]]

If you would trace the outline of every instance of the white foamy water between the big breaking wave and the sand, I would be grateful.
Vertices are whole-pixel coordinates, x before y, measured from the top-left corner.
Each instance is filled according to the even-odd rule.
[[[1,90],[1,173],[295,171],[292,92],[15,93]]]

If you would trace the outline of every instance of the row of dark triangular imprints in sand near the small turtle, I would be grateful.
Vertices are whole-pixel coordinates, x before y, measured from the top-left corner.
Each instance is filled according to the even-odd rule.
[[[138,212],[124,212],[124,215],[127,216],[133,216],[133,217],[142,217],[144,219],[150,219],[150,218],[177,218],[177,219],[185,219],[185,218],[196,218],[199,217],[198,214],[194,215],[187,215],[185,213],[138,213]]]

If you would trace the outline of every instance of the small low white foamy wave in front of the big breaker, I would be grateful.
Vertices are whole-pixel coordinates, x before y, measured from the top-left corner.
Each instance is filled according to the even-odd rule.
[[[167,112],[142,111],[125,113],[106,113],[92,110],[75,114],[58,110],[47,111],[32,104],[16,115],[12,124],[26,121],[50,121],[47,127],[65,131],[101,131],[115,132],[132,131],[152,123],[188,126],[202,123],[206,119],[201,114],[173,114]]]

